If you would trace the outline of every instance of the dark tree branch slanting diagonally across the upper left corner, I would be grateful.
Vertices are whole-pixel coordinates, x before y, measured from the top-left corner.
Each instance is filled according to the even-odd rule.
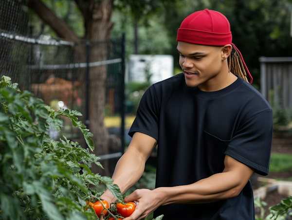
[[[35,11],[39,18],[47,23],[59,36],[69,41],[80,40],[72,29],[63,21],[58,18],[44,3],[40,0],[27,0],[28,7]]]

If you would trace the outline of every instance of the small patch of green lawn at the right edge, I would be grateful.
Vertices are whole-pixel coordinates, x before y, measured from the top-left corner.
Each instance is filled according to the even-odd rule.
[[[292,171],[292,154],[271,154],[270,172]]]

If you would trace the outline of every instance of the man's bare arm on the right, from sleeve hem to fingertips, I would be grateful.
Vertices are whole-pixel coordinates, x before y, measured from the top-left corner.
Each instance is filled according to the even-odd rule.
[[[226,155],[222,173],[214,174],[189,185],[139,189],[125,198],[137,201],[133,214],[125,220],[142,220],[161,205],[171,203],[210,203],[236,197],[254,170]]]

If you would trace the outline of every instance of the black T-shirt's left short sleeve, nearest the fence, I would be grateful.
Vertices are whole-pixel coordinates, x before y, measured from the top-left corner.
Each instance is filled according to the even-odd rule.
[[[154,85],[146,90],[140,101],[136,118],[128,133],[131,137],[135,132],[141,132],[158,140],[159,103]]]

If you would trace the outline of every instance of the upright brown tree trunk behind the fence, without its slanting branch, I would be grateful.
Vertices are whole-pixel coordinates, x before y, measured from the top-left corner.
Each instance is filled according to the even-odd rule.
[[[113,27],[111,22],[111,10],[113,0],[103,0],[92,6],[92,16],[85,20],[86,38],[91,43],[90,62],[107,60],[108,43],[98,43],[109,39]],[[107,66],[97,66],[90,68],[90,101],[89,101],[89,128],[93,133],[94,154],[104,155],[109,153],[108,130],[104,125],[104,110],[106,99],[106,79]],[[92,165],[91,171],[101,175],[110,176],[107,168],[108,160],[102,164],[106,167],[102,170],[97,165]]]

